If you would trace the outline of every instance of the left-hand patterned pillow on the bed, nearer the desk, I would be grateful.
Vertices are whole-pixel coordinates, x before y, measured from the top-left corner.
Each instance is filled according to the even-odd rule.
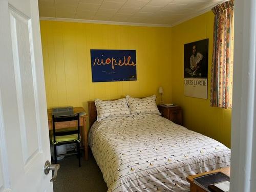
[[[95,99],[94,102],[97,109],[97,121],[101,121],[102,119],[111,116],[131,116],[125,98],[113,101]]]

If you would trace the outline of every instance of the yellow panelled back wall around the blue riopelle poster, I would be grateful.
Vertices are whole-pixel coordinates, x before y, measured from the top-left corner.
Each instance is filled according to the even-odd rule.
[[[170,28],[40,21],[47,106],[83,106],[87,101],[131,95],[172,99]],[[137,80],[92,82],[90,49],[135,49]],[[159,101],[159,98],[158,98]]]

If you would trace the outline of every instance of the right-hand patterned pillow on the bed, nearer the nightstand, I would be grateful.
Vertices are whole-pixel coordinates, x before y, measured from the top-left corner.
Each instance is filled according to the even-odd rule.
[[[127,95],[126,100],[132,115],[150,113],[161,115],[156,105],[156,95],[145,97],[143,99],[133,98]]]

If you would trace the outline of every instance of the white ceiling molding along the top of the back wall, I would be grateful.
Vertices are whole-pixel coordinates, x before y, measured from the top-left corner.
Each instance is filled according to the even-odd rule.
[[[58,22],[75,22],[89,24],[106,24],[106,25],[127,25],[127,26],[142,26],[142,27],[172,27],[172,25],[163,24],[143,24],[143,23],[126,23],[126,22],[109,22],[105,20],[87,20],[75,18],[57,18],[57,17],[39,17],[40,20],[54,20]]]

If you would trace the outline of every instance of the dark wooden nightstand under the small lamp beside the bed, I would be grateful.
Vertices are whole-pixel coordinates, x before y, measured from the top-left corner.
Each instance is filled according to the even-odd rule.
[[[158,105],[157,107],[164,118],[176,124],[183,125],[182,109],[180,106],[165,107]]]

